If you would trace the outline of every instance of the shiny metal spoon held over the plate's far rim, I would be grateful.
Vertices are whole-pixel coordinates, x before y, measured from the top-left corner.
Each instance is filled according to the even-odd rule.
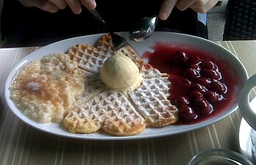
[[[129,32],[129,39],[135,42],[146,40],[153,34],[156,23],[157,16],[143,18]]]

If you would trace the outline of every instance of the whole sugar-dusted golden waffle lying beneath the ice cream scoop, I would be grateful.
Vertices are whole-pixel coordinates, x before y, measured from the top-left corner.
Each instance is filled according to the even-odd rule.
[[[163,127],[178,119],[178,110],[168,100],[170,82],[167,73],[145,64],[129,46],[118,51],[135,62],[143,80],[127,92],[107,89],[99,71],[114,53],[110,34],[99,38],[96,45],[78,44],[68,50],[71,59],[85,72],[85,92],[64,118],[71,133],[93,133],[102,129],[113,136],[131,136],[147,127]],[[88,92],[90,91],[90,92]]]

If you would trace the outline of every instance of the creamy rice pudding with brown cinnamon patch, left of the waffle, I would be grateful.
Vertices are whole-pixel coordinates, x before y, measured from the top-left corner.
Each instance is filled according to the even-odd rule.
[[[84,91],[85,74],[67,54],[29,62],[10,85],[10,98],[35,122],[62,122]]]

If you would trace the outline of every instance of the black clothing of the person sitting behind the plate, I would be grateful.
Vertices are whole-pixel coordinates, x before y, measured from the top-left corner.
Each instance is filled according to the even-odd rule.
[[[134,2],[132,2],[134,1]],[[135,3],[136,2],[136,3]],[[157,15],[162,1],[98,0],[96,10],[114,32],[129,32],[135,21]],[[176,8],[167,21],[159,21],[157,31],[198,35],[197,15],[192,10]],[[24,7],[19,1],[4,0],[1,12],[1,35],[4,47],[47,45],[57,40],[106,32],[85,7],[75,15],[69,7],[56,13],[36,7]]]

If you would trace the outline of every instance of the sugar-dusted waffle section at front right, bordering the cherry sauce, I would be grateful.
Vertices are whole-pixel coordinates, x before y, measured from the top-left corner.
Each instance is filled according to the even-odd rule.
[[[177,108],[168,100],[168,77],[145,78],[141,86],[128,92],[135,109],[147,125],[163,127],[177,121]]]

